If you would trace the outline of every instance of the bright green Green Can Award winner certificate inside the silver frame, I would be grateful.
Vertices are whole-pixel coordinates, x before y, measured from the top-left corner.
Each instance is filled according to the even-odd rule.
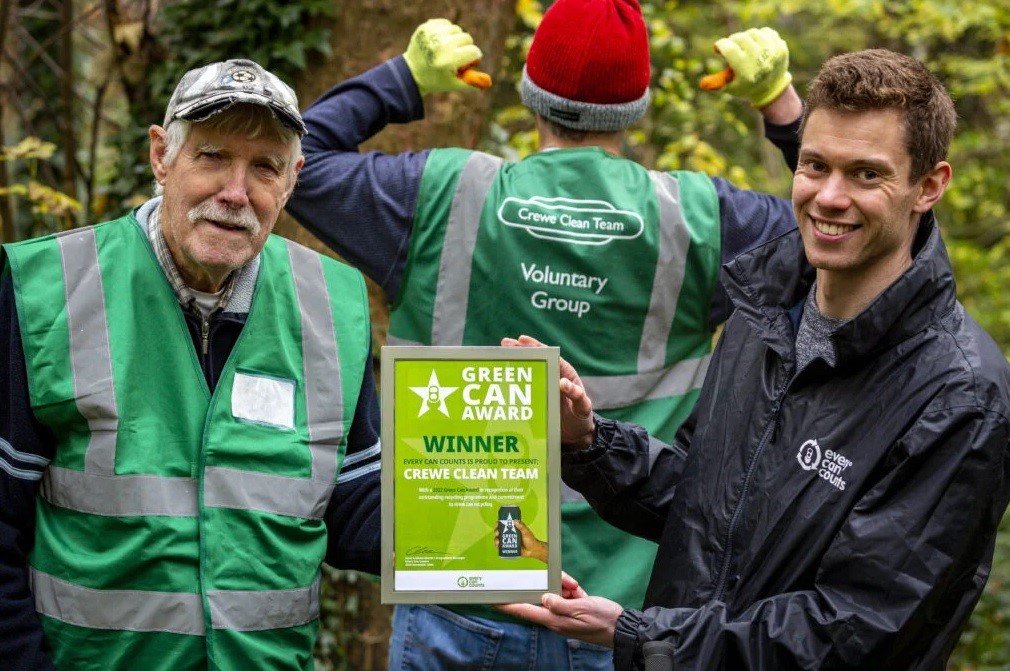
[[[545,362],[395,365],[396,588],[545,589]]]

